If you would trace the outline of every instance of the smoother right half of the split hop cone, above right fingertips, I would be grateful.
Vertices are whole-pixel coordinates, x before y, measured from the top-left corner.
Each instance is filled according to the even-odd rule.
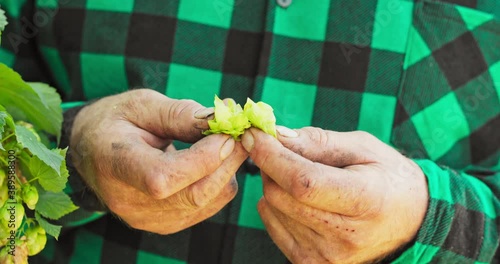
[[[270,105],[264,102],[255,103],[252,99],[247,98],[243,111],[248,120],[250,120],[250,123],[252,123],[252,126],[259,128],[273,137],[277,137],[276,117]]]

